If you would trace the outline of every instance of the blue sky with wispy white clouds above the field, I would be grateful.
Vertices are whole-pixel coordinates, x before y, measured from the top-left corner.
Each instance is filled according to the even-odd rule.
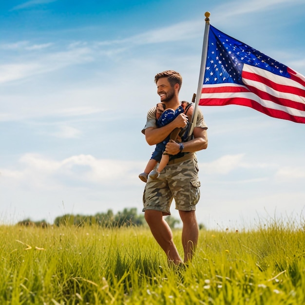
[[[153,78],[180,72],[180,99],[191,100],[206,11],[219,30],[305,75],[304,0],[1,1],[1,223],[140,212]],[[198,221],[304,219],[305,125],[242,106],[201,110],[209,147],[197,153]]]

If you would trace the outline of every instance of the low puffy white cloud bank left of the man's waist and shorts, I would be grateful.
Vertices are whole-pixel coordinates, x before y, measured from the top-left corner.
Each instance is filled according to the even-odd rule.
[[[26,153],[19,159],[19,169],[0,169],[0,179],[7,185],[26,186],[31,190],[73,187],[75,182],[94,188],[96,184],[113,184],[122,178],[133,184],[142,162],[97,159],[92,155],[75,155],[61,161],[36,153]],[[138,181],[136,181],[138,182]]]

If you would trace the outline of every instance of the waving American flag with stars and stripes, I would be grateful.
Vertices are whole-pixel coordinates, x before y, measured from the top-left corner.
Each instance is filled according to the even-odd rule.
[[[199,105],[229,104],[305,123],[305,77],[210,25]]]

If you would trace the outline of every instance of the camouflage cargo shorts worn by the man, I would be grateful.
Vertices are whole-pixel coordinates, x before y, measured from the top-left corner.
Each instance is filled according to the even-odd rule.
[[[200,198],[200,181],[196,157],[181,163],[170,164],[153,180],[148,179],[143,194],[145,210],[162,211],[170,215],[172,199],[176,210],[196,210]]]

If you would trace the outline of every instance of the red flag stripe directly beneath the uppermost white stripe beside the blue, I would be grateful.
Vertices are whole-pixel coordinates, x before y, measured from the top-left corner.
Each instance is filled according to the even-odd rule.
[[[259,82],[263,83],[264,85],[266,85],[276,91],[279,91],[279,92],[286,92],[286,93],[291,93],[291,94],[305,97],[304,89],[300,89],[300,88],[296,88],[296,87],[292,87],[292,86],[280,85],[280,84],[277,84],[274,81],[270,80],[269,78],[266,78],[264,76],[261,76],[261,75],[255,74],[255,73],[246,72],[243,70],[242,77],[250,79],[250,80],[254,80],[254,81],[259,81]],[[283,76],[278,76],[278,77],[283,77]]]

